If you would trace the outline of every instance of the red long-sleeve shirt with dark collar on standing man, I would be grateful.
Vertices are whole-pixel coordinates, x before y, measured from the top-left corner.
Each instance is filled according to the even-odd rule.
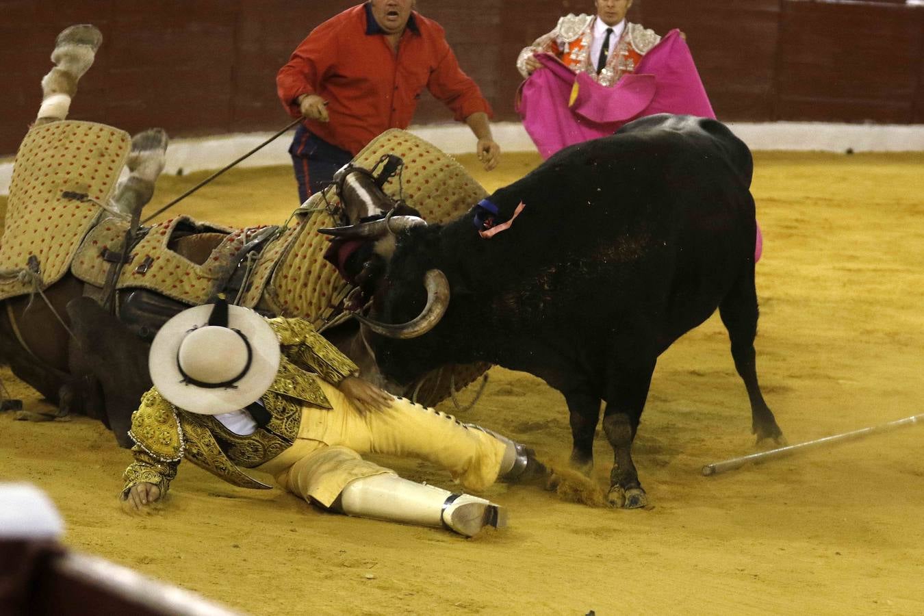
[[[330,121],[305,120],[305,126],[354,154],[388,128],[407,128],[424,88],[456,120],[491,115],[478,85],[459,68],[442,26],[412,12],[395,54],[366,4],[312,30],[276,75],[288,114],[300,115],[299,95],[321,96]]]

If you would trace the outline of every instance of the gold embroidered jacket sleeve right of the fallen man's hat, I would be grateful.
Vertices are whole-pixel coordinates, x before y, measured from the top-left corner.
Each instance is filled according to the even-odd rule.
[[[327,342],[307,320],[277,318],[271,319],[270,325],[279,335],[286,356],[323,380],[335,385],[359,372],[357,365]]]

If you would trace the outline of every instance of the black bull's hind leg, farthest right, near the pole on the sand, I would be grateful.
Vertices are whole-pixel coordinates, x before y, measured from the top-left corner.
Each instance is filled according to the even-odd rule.
[[[776,418],[757,380],[757,354],[754,338],[757,336],[758,320],[757,290],[754,287],[754,271],[741,276],[719,305],[719,314],[732,344],[735,369],[745,381],[751,405],[751,432],[757,435],[757,442],[772,439],[777,446],[786,444],[783,431],[776,425]]]

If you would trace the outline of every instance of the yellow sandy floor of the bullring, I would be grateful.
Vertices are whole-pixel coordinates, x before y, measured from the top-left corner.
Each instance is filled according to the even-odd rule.
[[[508,154],[490,189],[538,157]],[[753,186],[763,391],[790,442],[924,412],[924,153],[759,153]],[[149,211],[204,174],[164,177]],[[287,168],[228,173],[172,213],[281,223],[297,205]],[[566,205],[566,204],[565,204]],[[618,298],[614,298],[618,301]],[[35,393],[2,372],[27,405]],[[462,394],[468,399],[470,392]],[[453,412],[451,403],[444,410]],[[494,368],[465,415],[537,447],[570,451],[562,397]],[[0,479],[48,491],[67,545],[253,614],[924,613],[924,429],[702,477],[752,453],[748,399],[718,317],[662,357],[635,459],[651,507],[590,508],[497,486],[511,527],[472,540],[319,513],[278,489],[237,489],[181,466],[163,512],[121,513],[130,455],[100,424],[0,416]],[[611,454],[597,447],[595,479]],[[446,485],[423,464],[389,461]]]

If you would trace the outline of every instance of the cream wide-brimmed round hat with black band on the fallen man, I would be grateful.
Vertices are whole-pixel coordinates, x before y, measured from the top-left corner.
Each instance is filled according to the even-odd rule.
[[[151,344],[154,387],[190,413],[219,415],[256,402],[276,377],[281,353],[269,323],[224,300],[188,308]]]

